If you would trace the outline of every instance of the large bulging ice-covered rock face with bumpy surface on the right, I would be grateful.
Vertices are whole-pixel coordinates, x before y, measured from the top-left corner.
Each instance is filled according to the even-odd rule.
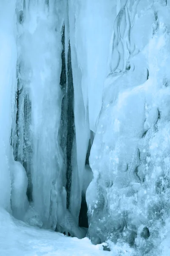
[[[109,238],[147,253],[161,241],[170,207],[170,9],[166,1],[120,1],[117,9],[90,155],[88,232],[93,243]]]

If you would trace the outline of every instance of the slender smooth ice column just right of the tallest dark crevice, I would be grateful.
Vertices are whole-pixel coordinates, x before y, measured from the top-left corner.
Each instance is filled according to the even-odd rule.
[[[79,211],[81,207],[83,172],[85,170],[85,158],[88,150],[88,140],[90,137],[88,112],[86,113],[83,103],[82,94],[82,71],[78,61],[77,42],[76,42],[76,26],[77,7],[74,1],[68,1],[68,16],[69,16],[69,33],[71,45],[71,67],[73,72],[74,85],[74,122],[76,133],[76,147],[73,148],[73,174],[71,183],[71,203],[70,210],[75,216],[76,222],[79,221]],[[77,156],[77,159],[76,157]]]

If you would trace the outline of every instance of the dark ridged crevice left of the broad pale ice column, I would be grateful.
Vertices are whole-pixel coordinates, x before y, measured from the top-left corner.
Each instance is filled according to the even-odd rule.
[[[14,151],[14,160],[19,161],[26,170],[28,177],[27,197],[32,201],[31,163],[32,143],[30,134],[31,101],[28,93],[23,89],[19,78],[20,64],[17,65],[17,91],[15,96],[16,125],[11,131],[11,145]]]

